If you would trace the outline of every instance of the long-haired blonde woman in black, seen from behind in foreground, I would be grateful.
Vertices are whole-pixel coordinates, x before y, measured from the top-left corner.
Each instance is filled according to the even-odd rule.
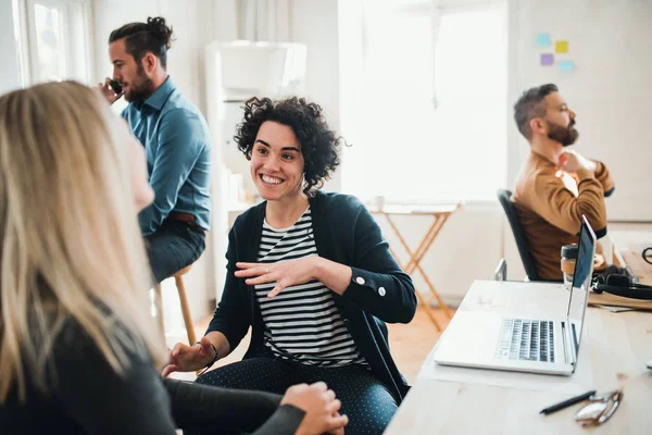
[[[341,433],[325,384],[281,398],[161,378],[146,179],[142,147],[96,91],[0,97],[0,433]]]

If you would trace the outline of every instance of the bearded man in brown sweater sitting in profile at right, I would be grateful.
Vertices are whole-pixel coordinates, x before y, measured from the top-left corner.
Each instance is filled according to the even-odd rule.
[[[575,144],[575,112],[555,85],[523,92],[514,105],[518,130],[530,145],[513,201],[540,279],[562,281],[561,248],[577,243],[586,214],[598,238],[606,234],[604,198],[614,190],[606,166],[566,147]],[[605,266],[597,257],[595,268]]]

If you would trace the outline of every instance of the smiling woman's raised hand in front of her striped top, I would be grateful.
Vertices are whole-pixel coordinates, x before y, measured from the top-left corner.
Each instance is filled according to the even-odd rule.
[[[266,283],[276,283],[272,291],[267,294],[273,298],[287,287],[305,284],[316,278],[317,256],[303,257],[296,260],[280,261],[278,263],[236,263],[239,271],[236,276],[247,278],[248,285],[259,285]]]

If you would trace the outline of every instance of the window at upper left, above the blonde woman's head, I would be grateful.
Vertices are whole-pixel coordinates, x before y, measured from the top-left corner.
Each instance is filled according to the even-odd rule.
[[[89,83],[88,0],[17,1],[25,84]]]

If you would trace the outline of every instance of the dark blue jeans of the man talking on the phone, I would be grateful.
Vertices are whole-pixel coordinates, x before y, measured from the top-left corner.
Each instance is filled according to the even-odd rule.
[[[150,266],[156,283],[192,264],[205,248],[205,234],[185,222],[165,220],[155,233],[145,236]]]

